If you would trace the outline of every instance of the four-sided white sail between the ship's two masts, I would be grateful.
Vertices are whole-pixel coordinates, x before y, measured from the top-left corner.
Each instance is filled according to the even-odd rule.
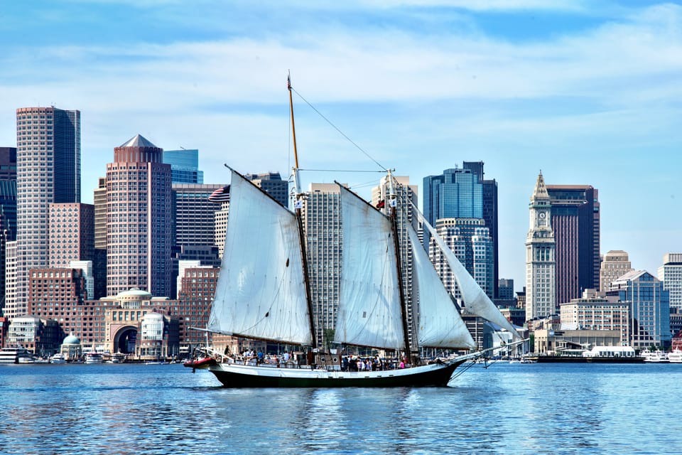
[[[391,220],[340,188],[343,250],[335,342],[404,348]]]

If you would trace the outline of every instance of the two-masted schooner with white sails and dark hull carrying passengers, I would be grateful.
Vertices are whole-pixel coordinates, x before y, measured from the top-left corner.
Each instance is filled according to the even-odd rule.
[[[289,91],[291,102],[291,85]],[[306,346],[308,353],[302,362],[274,365],[221,358],[208,370],[225,387],[448,385],[455,369],[482,355],[482,351],[474,352],[476,343],[413,225],[399,226],[398,196],[393,191],[390,171],[391,191],[384,208],[387,213],[339,184],[342,264],[334,341],[340,346],[395,351],[396,357],[404,358],[407,368],[347,371],[340,368],[339,354],[325,354],[315,346],[311,279],[301,218],[305,196],[298,191],[295,134],[293,140],[294,212],[231,169],[227,234],[207,331]],[[411,210],[418,213],[414,206]],[[423,215],[418,213],[418,217],[443,249],[467,311],[497,323],[519,338]],[[399,235],[405,230],[407,235]],[[402,237],[407,238],[412,254],[413,337],[408,328],[401,269],[401,252],[407,250],[401,248]],[[412,346],[413,339],[417,346]],[[470,352],[426,363],[418,358],[420,347]]]

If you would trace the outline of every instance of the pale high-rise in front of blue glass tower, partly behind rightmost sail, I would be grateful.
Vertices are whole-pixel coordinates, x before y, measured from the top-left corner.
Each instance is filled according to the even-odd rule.
[[[435,222],[435,230],[485,294],[492,299],[494,293],[493,245],[489,230],[485,227],[485,220],[482,218],[440,218]],[[435,242],[429,245],[429,256],[441,281],[445,284],[445,289],[448,289],[455,299],[461,299],[455,276],[448,266],[445,255]]]

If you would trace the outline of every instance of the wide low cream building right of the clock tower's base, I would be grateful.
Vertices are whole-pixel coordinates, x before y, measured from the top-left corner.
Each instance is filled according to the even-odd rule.
[[[623,345],[630,339],[629,305],[617,296],[597,296],[585,289],[580,299],[560,304],[561,328],[567,330],[617,330]]]

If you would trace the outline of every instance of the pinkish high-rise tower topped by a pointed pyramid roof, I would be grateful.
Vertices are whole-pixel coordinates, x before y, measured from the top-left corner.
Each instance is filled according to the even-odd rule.
[[[107,294],[171,294],[171,165],[139,134],[107,164]]]

